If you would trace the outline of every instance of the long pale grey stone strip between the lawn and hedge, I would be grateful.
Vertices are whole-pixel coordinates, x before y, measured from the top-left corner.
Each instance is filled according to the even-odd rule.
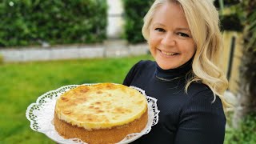
[[[146,43],[128,45],[122,40],[110,40],[102,45],[49,46],[0,49],[3,62],[29,62],[76,58],[123,57],[148,53]]]

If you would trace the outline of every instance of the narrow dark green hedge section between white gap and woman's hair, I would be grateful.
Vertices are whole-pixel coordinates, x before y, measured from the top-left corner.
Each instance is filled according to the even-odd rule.
[[[125,10],[125,38],[130,43],[145,42],[142,36],[143,18],[154,0],[122,0]]]

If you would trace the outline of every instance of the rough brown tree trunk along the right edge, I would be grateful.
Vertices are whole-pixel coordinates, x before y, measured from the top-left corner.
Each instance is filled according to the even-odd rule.
[[[238,106],[235,107],[233,117],[235,128],[249,112],[256,112],[256,0],[242,0],[239,5],[240,14],[244,13],[244,30]]]

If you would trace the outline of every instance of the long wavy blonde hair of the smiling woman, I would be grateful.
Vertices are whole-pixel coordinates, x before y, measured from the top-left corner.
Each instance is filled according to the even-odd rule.
[[[218,68],[223,48],[218,10],[210,0],[156,0],[144,18],[142,34],[146,40],[150,36],[150,23],[155,10],[166,2],[174,2],[182,7],[197,47],[192,64],[193,77],[186,82],[186,92],[191,82],[202,82],[213,91],[213,102],[218,95],[224,108],[230,106],[223,98],[228,82],[225,74]]]

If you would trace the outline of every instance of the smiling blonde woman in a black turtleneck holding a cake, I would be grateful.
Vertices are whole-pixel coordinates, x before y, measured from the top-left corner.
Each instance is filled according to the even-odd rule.
[[[228,83],[218,68],[222,38],[212,2],[156,0],[142,34],[156,62],[138,62],[123,84],[157,98],[160,113],[134,143],[223,143]]]

